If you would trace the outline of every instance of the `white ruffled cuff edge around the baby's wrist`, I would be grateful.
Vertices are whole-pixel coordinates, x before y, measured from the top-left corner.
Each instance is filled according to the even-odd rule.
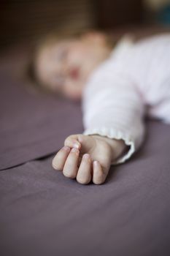
[[[125,134],[124,132],[117,131],[115,129],[101,128],[101,129],[85,129],[82,133],[83,135],[101,135],[104,137],[108,137],[115,140],[124,140],[125,145],[130,146],[129,150],[125,152],[123,156],[111,162],[111,165],[118,165],[126,160],[128,160],[132,154],[136,151],[136,143],[135,140],[129,134]]]

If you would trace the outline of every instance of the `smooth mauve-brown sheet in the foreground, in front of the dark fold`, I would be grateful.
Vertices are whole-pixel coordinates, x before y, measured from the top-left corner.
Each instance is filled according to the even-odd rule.
[[[0,244],[6,255],[170,255],[170,129],[150,121],[142,150],[83,186],[52,157],[0,172]]]

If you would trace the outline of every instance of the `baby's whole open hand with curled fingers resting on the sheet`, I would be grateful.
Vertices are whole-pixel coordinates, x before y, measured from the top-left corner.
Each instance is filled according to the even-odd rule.
[[[119,144],[117,144],[119,143]],[[120,145],[121,144],[121,145]],[[70,135],[55,155],[53,167],[80,184],[102,184],[112,160],[123,151],[124,143],[100,135]]]

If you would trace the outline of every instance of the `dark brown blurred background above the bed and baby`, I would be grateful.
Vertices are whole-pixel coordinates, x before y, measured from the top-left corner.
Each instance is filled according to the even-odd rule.
[[[1,0],[0,49],[52,31],[170,26],[170,0]]]

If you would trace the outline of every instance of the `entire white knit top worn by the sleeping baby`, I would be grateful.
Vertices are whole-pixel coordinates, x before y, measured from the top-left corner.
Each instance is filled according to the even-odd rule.
[[[170,34],[125,39],[90,77],[82,98],[84,135],[124,140],[126,159],[142,145],[144,116],[170,124]]]

